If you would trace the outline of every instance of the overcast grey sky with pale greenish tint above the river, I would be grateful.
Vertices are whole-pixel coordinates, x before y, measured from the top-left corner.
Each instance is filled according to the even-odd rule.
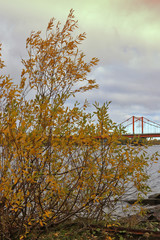
[[[0,0],[7,72],[19,82],[31,30],[45,31],[52,17],[63,24],[71,8],[87,33],[87,58],[100,59],[92,72],[99,89],[77,99],[112,101],[109,113],[118,123],[132,115],[160,123],[160,0]]]

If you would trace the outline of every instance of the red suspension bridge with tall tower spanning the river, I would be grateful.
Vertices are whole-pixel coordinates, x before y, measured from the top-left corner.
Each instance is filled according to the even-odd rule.
[[[152,138],[160,137],[160,123],[156,123],[145,117],[132,116],[120,124],[125,128],[126,137]]]

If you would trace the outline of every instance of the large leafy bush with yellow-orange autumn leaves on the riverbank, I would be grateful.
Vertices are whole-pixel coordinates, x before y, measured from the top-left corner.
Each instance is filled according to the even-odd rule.
[[[20,85],[0,76],[1,239],[69,219],[107,219],[127,187],[147,190],[145,154],[120,145],[108,103],[95,103],[93,113],[87,102],[67,107],[70,97],[97,88],[88,73],[98,59],[85,61],[85,33],[75,36],[76,28],[73,10],[63,27],[51,19],[45,39],[32,32],[26,41]]]

